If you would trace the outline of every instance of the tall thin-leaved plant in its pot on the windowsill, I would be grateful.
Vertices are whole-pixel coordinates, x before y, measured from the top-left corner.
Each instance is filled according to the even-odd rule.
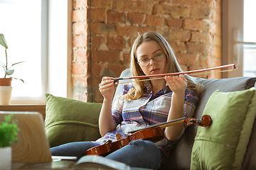
[[[21,62],[16,62],[11,65],[11,67],[8,67],[8,58],[7,58],[7,48],[8,45],[6,43],[6,40],[4,38],[4,34],[0,34],[0,44],[5,48],[5,56],[6,60],[5,62],[2,62],[0,60],[0,66],[4,69],[4,77],[0,78],[0,105],[9,105],[11,101],[11,81],[12,79],[17,79],[15,77],[11,77],[11,74],[14,74],[14,69],[11,69],[16,64],[19,64]],[[22,82],[23,79],[19,79]]]

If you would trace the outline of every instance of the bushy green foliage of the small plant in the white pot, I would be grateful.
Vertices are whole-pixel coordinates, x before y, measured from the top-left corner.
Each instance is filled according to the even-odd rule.
[[[12,116],[6,115],[4,120],[0,120],[0,147],[10,147],[11,143],[18,140],[18,120],[11,120]]]

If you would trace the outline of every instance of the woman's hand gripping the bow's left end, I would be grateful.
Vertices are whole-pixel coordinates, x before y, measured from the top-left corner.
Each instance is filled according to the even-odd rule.
[[[111,77],[102,77],[99,90],[104,97],[104,101],[112,101],[114,96],[114,80]]]

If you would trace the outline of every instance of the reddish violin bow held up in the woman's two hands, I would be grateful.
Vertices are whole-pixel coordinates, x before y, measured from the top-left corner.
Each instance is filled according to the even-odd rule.
[[[228,71],[233,71],[235,69],[237,69],[235,67],[235,64],[226,64],[223,66],[218,66],[218,67],[211,67],[208,69],[197,69],[197,70],[192,70],[192,71],[186,71],[186,72],[175,72],[175,73],[166,73],[166,74],[154,74],[154,75],[148,75],[148,76],[139,76],[139,77],[117,77],[117,78],[112,78],[112,80],[114,80],[114,84],[126,84],[128,82],[122,82],[119,83],[119,80],[125,80],[125,79],[142,79],[142,80],[137,80],[137,81],[145,81],[145,78],[151,78],[151,77],[161,77],[161,78],[156,78],[156,79],[163,79],[163,77],[166,76],[177,76],[179,74],[195,74],[198,72],[208,72],[210,70],[215,70],[215,69],[223,69],[223,68],[228,68],[228,67],[233,67],[233,69],[230,70],[223,70],[220,72],[228,72]]]

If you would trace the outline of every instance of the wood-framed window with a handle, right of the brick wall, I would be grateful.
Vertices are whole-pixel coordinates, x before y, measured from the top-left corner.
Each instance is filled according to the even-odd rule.
[[[256,76],[255,5],[255,0],[222,1],[223,64],[235,63],[238,68],[223,73],[223,78]]]

